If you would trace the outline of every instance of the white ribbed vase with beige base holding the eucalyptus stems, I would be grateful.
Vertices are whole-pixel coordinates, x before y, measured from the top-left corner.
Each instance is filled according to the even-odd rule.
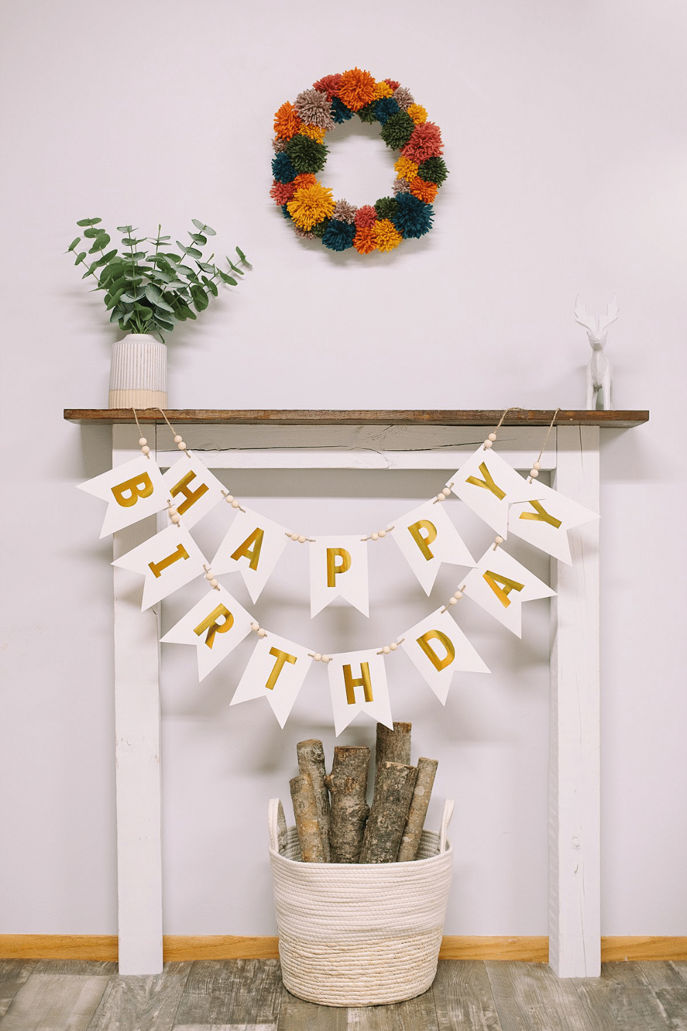
[[[149,333],[112,344],[108,408],[167,407],[167,347]]]

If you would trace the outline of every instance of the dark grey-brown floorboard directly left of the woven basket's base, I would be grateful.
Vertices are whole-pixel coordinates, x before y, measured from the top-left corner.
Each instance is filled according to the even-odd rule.
[[[201,960],[192,965],[176,1023],[276,1025],[283,991],[278,960]]]

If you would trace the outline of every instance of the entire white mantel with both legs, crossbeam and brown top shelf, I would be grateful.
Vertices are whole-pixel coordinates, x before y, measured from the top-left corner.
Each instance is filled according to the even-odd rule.
[[[160,412],[139,412],[165,467],[178,452]],[[457,469],[501,412],[168,411],[212,469]],[[552,411],[516,409],[499,454],[529,469]],[[133,414],[68,409],[112,424],[112,463],[140,454]],[[598,511],[599,431],[646,422],[647,411],[559,412],[542,469],[568,497]],[[114,556],[156,532],[144,520],[114,534]],[[598,524],[571,531],[574,564],[551,561],[549,962],[561,977],[600,972]],[[140,611],[140,577],[114,568],[118,951],[123,974],[163,968],[159,622]]]

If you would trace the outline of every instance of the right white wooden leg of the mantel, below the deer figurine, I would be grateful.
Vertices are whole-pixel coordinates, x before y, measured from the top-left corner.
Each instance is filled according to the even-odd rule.
[[[598,511],[598,428],[557,428],[553,486]],[[552,560],[549,963],[600,973],[598,523],[571,531],[574,565]],[[557,566],[557,570],[555,567]]]

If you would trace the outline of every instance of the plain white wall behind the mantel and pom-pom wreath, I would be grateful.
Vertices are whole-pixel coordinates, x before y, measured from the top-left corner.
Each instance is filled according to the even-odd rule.
[[[116,334],[62,254],[100,215],[179,238],[202,218],[253,263],[175,332],[173,407],[582,407],[575,296],[599,309],[617,294],[615,405],[651,422],[604,433],[603,930],[687,933],[684,5],[5,0],[2,21],[0,932],[116,930],[110,544],[73,489],[108,467],[109,436],[62,420],[106,403]],[[268,197],[274,110],[355,64],[414,92],[451,171],[433,233],[369,259],[297,241]],[[344,136],[328,181],[374,202],[391,161],[374,133]],[[237,479],[266,514],[320,532],[437,490],[431,474]],[[218,532],[208,520],[202,536]],[[478,547],[486,528],[466,532]],[[303,639],[302,571],[279,575],[259,614]],[[427,610],[390,583],[377,625],[318,618],[322,645],[377,643],[376,626]],[[547,610],[531,609],[521,643],[470,614],[494,674],[456,686],[445,716],[399,674],[397,718],[440,759],[439,798],[457,799],[447,933],[546,933]],[[331,754],[323,679],[281,733],[259,703],[229,708],[239,672],[199,686],[185,650],[165,654],[168,933],[273,932],[267,799],[287,795],[297,740],[321,734]]]

